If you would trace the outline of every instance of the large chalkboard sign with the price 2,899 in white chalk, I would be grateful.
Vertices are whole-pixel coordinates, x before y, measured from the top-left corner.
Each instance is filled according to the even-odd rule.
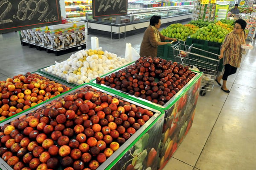
[[[59,0],[0,0],[0,33],[58,23]]]

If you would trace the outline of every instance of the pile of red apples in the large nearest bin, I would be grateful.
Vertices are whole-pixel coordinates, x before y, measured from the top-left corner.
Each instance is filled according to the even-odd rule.
[[[96,170],[153,114],[86,86],[0,127],[0,156],[14,170]]]

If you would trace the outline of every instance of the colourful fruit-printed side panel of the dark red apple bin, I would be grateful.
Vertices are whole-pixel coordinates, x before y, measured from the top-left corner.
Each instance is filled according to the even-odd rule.
[[[166,110],[160,142],[158,170],[162,170],[192,126],[201,78]]]

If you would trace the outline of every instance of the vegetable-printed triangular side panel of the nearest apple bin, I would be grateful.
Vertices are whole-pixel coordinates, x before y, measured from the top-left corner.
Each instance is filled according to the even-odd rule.
[[[163,129],[162,115],[155,124],[115,162],[110,170],[157,170],[160,138]]]

